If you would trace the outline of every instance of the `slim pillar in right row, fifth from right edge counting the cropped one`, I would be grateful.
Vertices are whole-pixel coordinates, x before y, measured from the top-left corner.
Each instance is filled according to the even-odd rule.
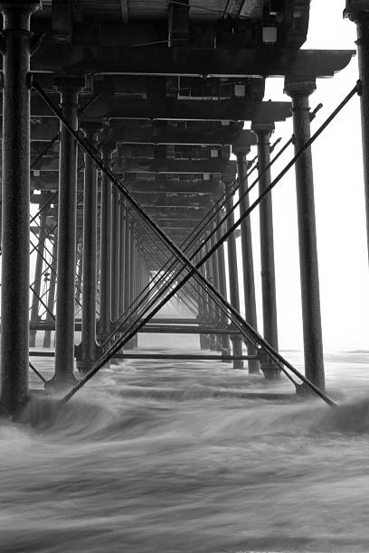
[[[226,188],[226,194],[228,195]],[[229,230],[234,224],[234,211],[233,198],[230,197],[225,202],[225,210],[229,213],[227,218],[227,230]],[[236,249],[236,237],[234,232],[227,239],[228,246],[228,275],[230,278],[230,303],[232,307],[240,311],[240,291],[239,291],[239,279],[237,269],[237,249]],[[233,355],[242,355],[242,339],[241,335],[232,334],[231,338]],[[243,369],[243,361],[233,361],[233,369]]]

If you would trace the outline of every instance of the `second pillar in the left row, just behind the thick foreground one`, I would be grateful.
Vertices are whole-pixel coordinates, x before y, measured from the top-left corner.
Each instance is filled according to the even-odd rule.
[[[78,92],[74,80],[63,80],[61,112],[72,128],[78,127]],[[74,313],[77,224],[77,144],[61,125],[58,203],[58,263],[56,287],[55,373],[46,388],[68,389],[75,383]]]

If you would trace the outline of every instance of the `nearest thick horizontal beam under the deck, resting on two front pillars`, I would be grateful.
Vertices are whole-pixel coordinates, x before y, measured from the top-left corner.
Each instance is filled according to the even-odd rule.
[[[34,55],[34,71],[80,77],[92,74],[182,75],[188,77],[332,77],[355,52],[345,50],[206,49],[44,44]]]

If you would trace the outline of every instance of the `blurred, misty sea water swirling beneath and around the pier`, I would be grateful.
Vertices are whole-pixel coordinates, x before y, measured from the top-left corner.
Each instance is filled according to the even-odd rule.
[[[369,551],[369,353],[326,356],[326,381],[337,408],[230,363],[120,361],[56,417],[3,420],[0,551]]]

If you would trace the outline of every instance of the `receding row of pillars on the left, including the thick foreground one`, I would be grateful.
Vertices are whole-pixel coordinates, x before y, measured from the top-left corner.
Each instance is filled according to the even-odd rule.
[[[3,104],[3,217],[2,217],[2,347],[0,403],[7,413],[14,413],[28,399],[29,371],[29,282],[30,282],[30,56],[33,49],[30,32],[31,15],[39,2],[1,2],[4,15],[4,104]],[[78,127],[78,94],[80,80],[62,80],[61,112],[73,129]],[[97,127],[85,127],[94,141]],[[102,153],[109,159],[109,148]],[[106,177],[102,177],[106,180]],[[100,310],[96,321],[97,300],[97,171],[89,156],[85,158],[83,258],[82,258],[82,337],[80,371],[90,369],[97,359],[97,332],[105,337],[112,324],[147,285],[143,256],[134,235],[126,206],[112,192],[110,184],[101,186],[100,216]],[[112,220],[110,218],[112,217]],[[44,230],[45,221],[40,221]],[[69,388],[73,376],[75,345],[75,268],[77,220],[77,145],[65,127],[60,132],[60,167],[58,231],[52,251],[49,289],[49,319],[52,315],[56,287],[55,371],[49,389]],[[113,229],[113,230],[112,230]],[[40,244],[43,243],[40,231]],[[42,267],[43,255],[38,248],[36,265]],[[54,263],[57,257],[57,264]],[[42,268],[36,267],[38,272]],[[125,283],[119,282],[124,275]],[[139,276],[139,277],[138,277]],[[147,276],[148,278],[148,276]],[[129,280],[129,282],[128,282]],[[55,283],[56,281],[56,283]],[[41,279],[35,279],[34,295],[40,296]],[[55,286],[56,284],[56,286]],[[37,302],[31,316],[37,319]],[[47,331],[44,345],[51,345]],[[133,340],[129,344],[135,346]]]

